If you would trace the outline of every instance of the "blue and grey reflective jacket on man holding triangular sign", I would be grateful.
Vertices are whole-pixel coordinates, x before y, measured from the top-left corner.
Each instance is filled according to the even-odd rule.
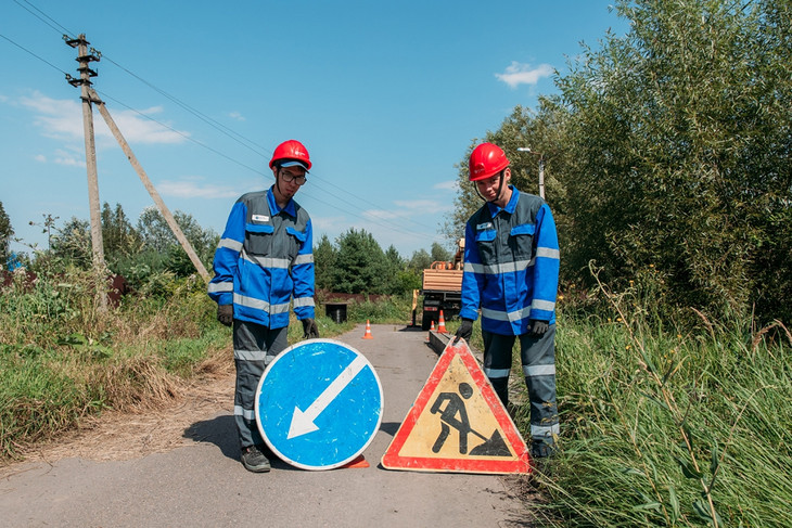
[[[528,320],[555,322],[559,241],[550,207],[513,186],[504,208],[485,204],[465,227],[460,317],[521,335]]]

